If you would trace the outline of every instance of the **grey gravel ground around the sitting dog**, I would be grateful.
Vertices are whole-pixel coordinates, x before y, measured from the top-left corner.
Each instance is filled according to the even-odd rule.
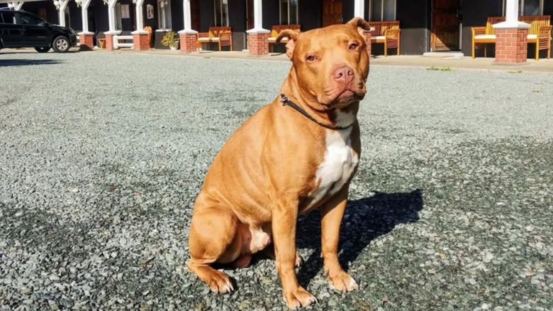
[[[0,54],[0,310],[284,310],[274,261],[212,295],[184,266],[194,198],[289,62]],[[363,153],[312,310],[553,310],[553,75],[372,67]]]

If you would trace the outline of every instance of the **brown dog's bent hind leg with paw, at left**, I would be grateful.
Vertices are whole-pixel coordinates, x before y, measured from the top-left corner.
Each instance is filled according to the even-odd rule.
[[[196,206],[195,209],[190,227],[188,267],[209,285],[213,293],[230,293],[234,288],[228,275],[210,265],[230,263],[240,256],[238,219],[224,207]]]

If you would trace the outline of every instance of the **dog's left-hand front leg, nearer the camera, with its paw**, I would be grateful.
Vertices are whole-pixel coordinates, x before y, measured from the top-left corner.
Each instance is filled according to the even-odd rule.
[[[296,277],[296,223],[298,199],[282,198],[272,211],[274,251],[277,256],[277,272],[282,283],[284,301],[290,308],[307,307],[316,299],[303,289]]]

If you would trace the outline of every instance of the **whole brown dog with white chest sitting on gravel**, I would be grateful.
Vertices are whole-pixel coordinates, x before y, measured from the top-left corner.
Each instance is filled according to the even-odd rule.
[[[292,60],[281,97],[247,119],[228,138],[196,198],[190,228],[191,271],[216,293],[233,285],[211,263],[247,266],[252,253],[274,244],[289,307],[315,302],[296,278],[298,214],[322,209],[325,273],[336,290],[357,289],[337,258],[347,192],[361,152],[357,110],[366,92],[369,25],[299,33],[284,31]],[[272,247],[268,248],[272,253]]]

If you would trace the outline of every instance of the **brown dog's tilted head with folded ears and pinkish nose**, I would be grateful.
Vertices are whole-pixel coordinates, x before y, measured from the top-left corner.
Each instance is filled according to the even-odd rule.
[[[369,75],[369,54],[362,36],[370,26],[362,18],[300,33],[285,30],[286,55],[301,97],[322,109],[347,107],[363,99]]]

